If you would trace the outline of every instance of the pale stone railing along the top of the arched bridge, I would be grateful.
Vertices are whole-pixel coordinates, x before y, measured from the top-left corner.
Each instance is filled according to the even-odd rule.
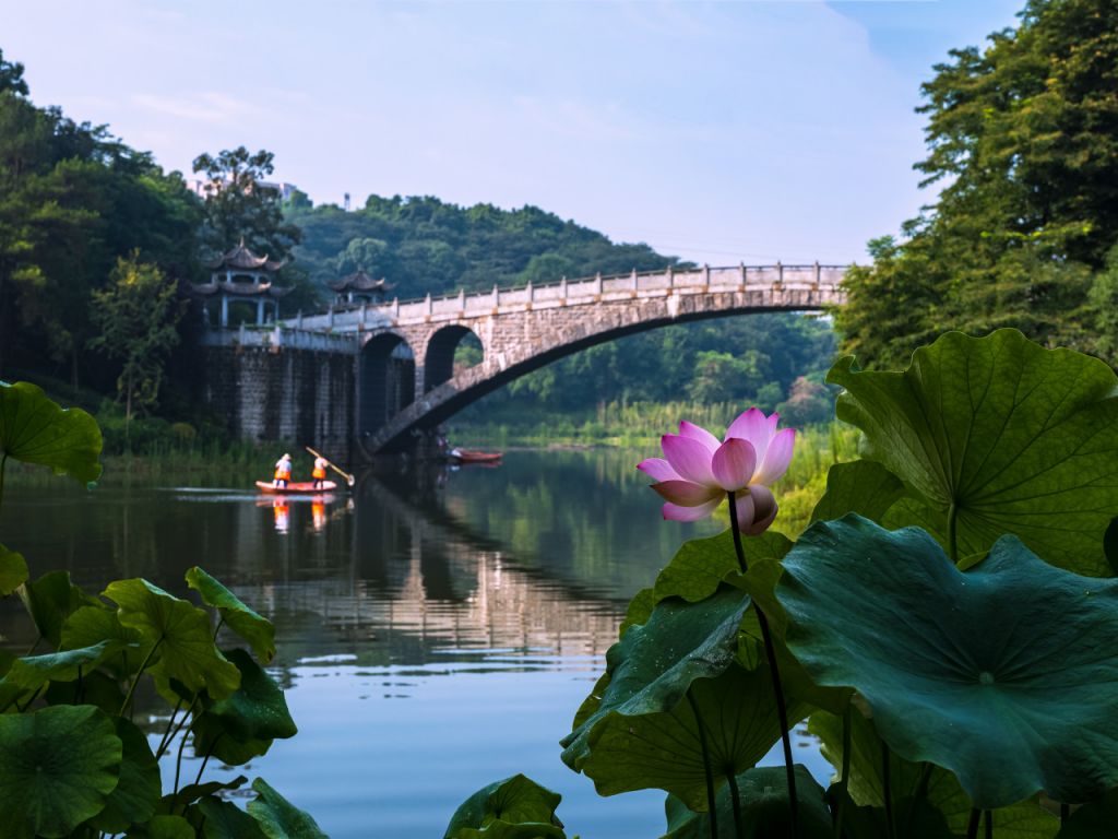
[[[428,321],[452,321],[463,318],[512,313],[550,307],[586,305],[600,301],[625,298],[656,298],[671,294],[702,294],[714,291],[745,291],[748,289],[836,291],[846,265],[736,265],[662,271],[633,271],[628,274],[568,281],[546,285],[523,285],[514,289],[493,287],[492,291],[466,294],[458,292],[446,296],[385,305],[367,305],[331,311],[325,314],[300,317],[287,321],[304,330],[364,331],[392,326],[407,326]]]

